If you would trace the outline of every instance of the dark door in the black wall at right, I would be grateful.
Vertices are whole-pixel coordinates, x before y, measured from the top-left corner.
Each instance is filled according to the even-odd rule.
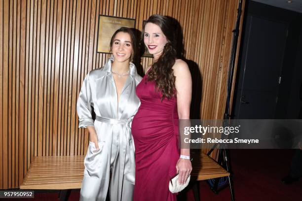
[[[247,18],[234,105],[235,119],[274,119],[288,24]]]

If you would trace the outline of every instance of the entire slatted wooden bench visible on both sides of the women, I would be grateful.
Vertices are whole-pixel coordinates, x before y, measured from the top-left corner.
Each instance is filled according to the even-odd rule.
[[[191,177],[196,181],[228,176],[223,167],[204,153],[193,157]],[[20,189],[64,190],[60,200],[68,199],[70,189],[80,189],[85,156],[39,156],[34,161]],[[198,185],[193,187],[195,201],[199,200]]]

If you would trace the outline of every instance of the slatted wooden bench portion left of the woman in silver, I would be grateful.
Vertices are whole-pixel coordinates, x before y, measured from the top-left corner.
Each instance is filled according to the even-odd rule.
[[[20,189],[51,189],[60,191],[60,200],[68,199],[70,189],[80,189],[85,156],[38,156]]]

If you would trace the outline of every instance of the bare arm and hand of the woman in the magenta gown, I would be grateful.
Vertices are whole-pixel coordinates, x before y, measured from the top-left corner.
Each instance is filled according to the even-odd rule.
[[[173,71],[176,76],[175,87],[177,90],[178,117],[180,120],[189,119],[192,96],[192,80],[189,67],[186,62],[176,60]],[[181,149],[181,155],[190,156],[190,149]],[[179,172],[179,183],[185,183],[192,171],[191,161],[189,159],[180,158],[177,162],[176,169]]]

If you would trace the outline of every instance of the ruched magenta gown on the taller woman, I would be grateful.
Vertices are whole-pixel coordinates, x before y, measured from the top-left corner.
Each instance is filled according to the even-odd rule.
[[[136,88],[141,106],[132,121],[135,145],[134,201],[176,201],[169,181],[176,174],[178,114],[176,98],[164,99],[145,75]]]

